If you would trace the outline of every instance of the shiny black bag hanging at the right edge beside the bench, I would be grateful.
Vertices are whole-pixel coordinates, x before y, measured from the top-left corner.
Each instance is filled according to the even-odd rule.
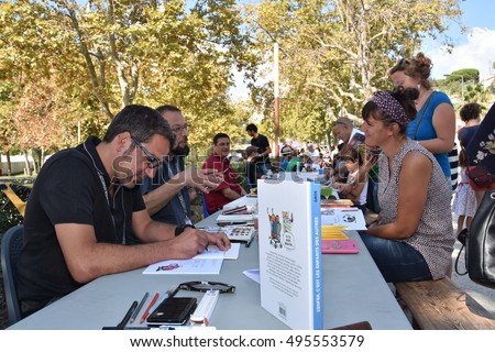
[[[487,189],[469,230],[458,235],[462,248],[455,260],[455,273],[469,274],[476,284],[495,288],[495,189]],[[460,273],[459,257],[465,249],[465,273]]]

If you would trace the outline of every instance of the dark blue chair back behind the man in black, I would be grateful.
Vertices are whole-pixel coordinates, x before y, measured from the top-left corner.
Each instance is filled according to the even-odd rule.
[[[24,245],[24,232],[22,224],[7,230],[3,234],[1,246],[1,262],[3,273],[3,287],[7,300],[8,324],[11,326],[22,319],[21,307],[15,288],[16,264],[21,249]]]

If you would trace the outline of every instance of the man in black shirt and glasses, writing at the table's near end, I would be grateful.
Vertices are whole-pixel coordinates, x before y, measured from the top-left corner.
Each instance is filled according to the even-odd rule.
[[[224,234],[153,221],[140,187],[174,143],[148,107],[128,106],[102,141],[89,138],[43,165],[28,201],[16,288],[23,317],[102,275],[190,258]],[[133,244],[133,237],[142,244]],[[130,245],[133,244],[133,245]]]

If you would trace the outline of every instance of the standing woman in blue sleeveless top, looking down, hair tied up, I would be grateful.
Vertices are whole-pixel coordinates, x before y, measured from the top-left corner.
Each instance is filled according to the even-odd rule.
[[[422,53],[414,58],[403,58],[391,68],[389,75],[398,91],[416,88],[416,119],[407,128],[407,136],[418,141],[431,152],[440,164],[446,178],[451,184],[449,152],[455,139],[455,112],[449,97],[431,89],[431,61]]]

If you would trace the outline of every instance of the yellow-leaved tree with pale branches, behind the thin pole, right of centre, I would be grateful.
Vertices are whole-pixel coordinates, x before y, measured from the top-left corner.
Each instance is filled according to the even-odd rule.
[[[389,86],[387,70],[397,57],[410,56],[427,35],[443,35],[447,20],[460,14],[457,0],[282,0],[246,7],[267,67],[273,43],[282,51],[282,128],[304,123],[287,120],[301,119],[294,111],[312,110],[317,99],[319,121],[307,127],[315,138],[341,110],[358,116],[374,90]],[[256,98],[271,103],[267,95]]]

